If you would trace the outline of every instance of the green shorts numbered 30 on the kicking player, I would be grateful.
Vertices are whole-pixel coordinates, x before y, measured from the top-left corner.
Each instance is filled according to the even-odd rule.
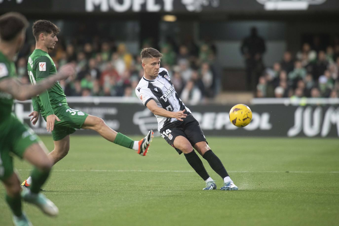
[[[88,114],[74,110],[68,105],[62,105],[53,109],[54,114],[61,120],[55,121],[54,129],[52,131],[52,138],[54,141],[58,141],[66,137],[67,135],[74,133],[75,129],[80,129],[85,122]],[[46,121],[46,117],[44,116]]]

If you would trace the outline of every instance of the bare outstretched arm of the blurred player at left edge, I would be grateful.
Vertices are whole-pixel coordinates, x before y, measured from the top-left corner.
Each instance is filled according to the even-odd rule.
[[[57,80],[66,79],[73,75],[75,75],[74,66],[67,64],[60,69],[58,74],[48,77],[36,85],[21,84],[17,79],[5,78],[0,81],[0,90],[11,94],[17,100],[27,100],[52,87]]]

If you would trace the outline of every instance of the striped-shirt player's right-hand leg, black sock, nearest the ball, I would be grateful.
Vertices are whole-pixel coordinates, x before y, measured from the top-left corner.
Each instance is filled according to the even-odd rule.
[[[222,190],[238,190],[238,187],[233,184],[233,181],[228,175],[224,165],[220,159],[213,153],[211,148],[205,141],[200,141],[194,145],[194,148],[200,153],[200,155],[207,160],[211,168],[219,174],[219,176],[224,180],[224,186]],[[230,184],[228,182],[231,182]],[[225,187],[226,186],[226,187]]]

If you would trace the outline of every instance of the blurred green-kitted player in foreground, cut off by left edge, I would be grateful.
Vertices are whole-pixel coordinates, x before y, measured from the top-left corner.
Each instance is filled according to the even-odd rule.
[[[55,216],[58,208],[39,193],[46,181],[52,162],[47,157],[47,148],[32,129],[21,123],[12,113],[13,98],[26,100],[51,87],[57,80],[75,74],[71,65],[63,67],[59,74],[43,82],[24,85],[17,80],[14,56],[25,40],[28,26],[26,18],[19,13],[6,13],[0,17],[0,180],[6,189],[6,202],[13,212],[14,225],[32,225],[22,211],[21,198],[37,205],[44,213]],[[32,186],[20,196],[20,182],[13,169],[13,154],[35,166]]]

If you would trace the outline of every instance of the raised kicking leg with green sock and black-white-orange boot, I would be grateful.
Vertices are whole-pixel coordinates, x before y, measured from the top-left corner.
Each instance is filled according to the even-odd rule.
[[[140,155],[143,156],[146,155],[149,144],[151,143],[153,138],[153,131],[149,131],[144,139],[140,141],[134,141],[131,138],[123,135],[122,133],[118,133],[115,130],[111,129],[109,126],[106,125],[103,119],[92,115],[87,116],[81,128],[95,130],[106,140],[120,146],[136,150]]]

